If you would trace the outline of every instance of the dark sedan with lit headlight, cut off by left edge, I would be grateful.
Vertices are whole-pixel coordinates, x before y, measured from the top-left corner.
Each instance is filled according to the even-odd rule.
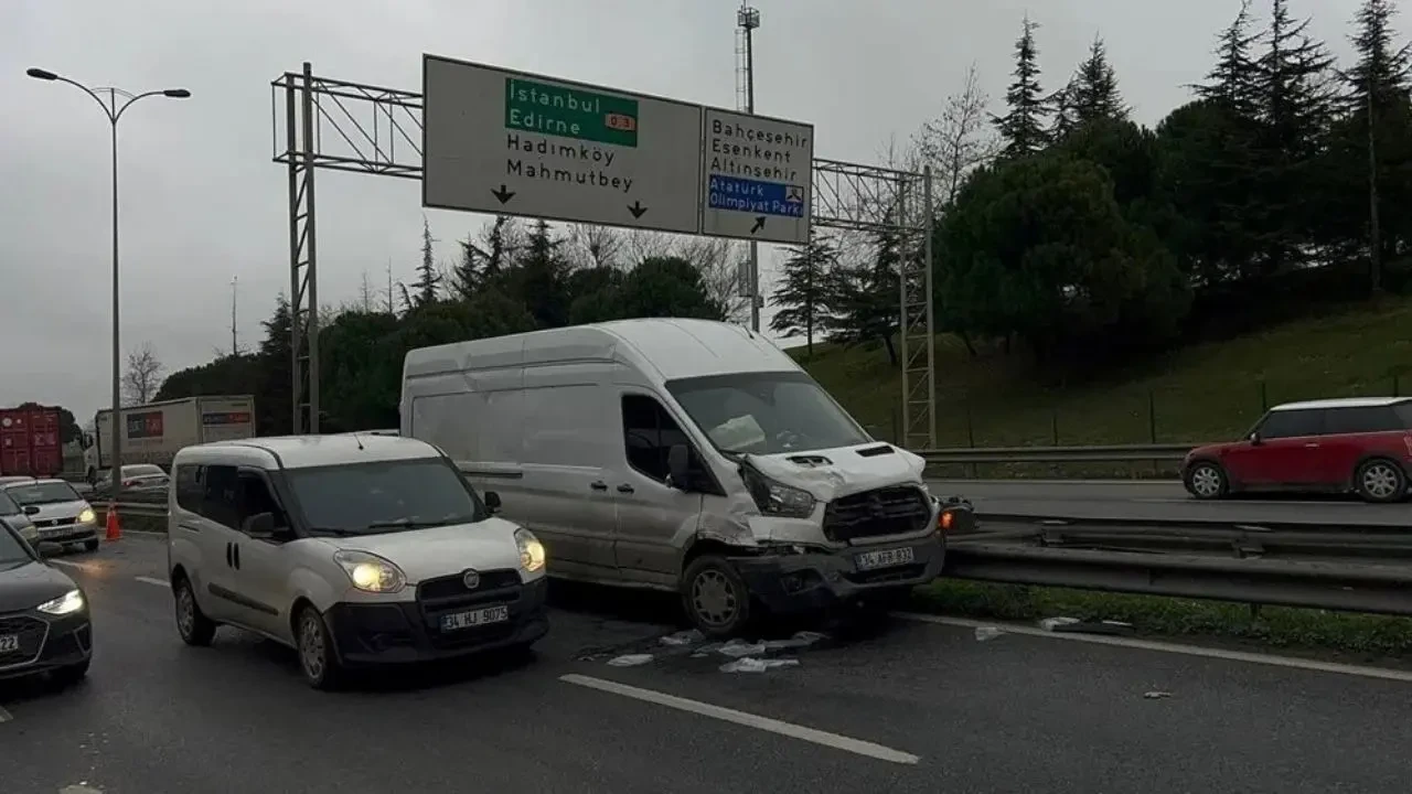
[[[83,591],[0,523],[0,678],[48,672],[71,684],[92,653]]]

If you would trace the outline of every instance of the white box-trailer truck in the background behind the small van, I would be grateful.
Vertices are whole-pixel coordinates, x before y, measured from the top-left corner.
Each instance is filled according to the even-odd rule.
[[[83,468],[92,483],[113,465],[113,411],[93,417],[93,434],[85,438]],[[121,410],[123,463],[154,463],[169,469],[182,446],[256,435],[256,400],[249,394],[186,397],[131,405]]]

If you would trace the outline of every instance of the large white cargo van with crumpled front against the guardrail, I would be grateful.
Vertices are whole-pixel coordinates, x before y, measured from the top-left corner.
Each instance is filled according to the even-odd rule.
[[[923,461],[873,441],[768,339],[628,319],[407,353],[401,434],[548,547],[551,575],[679,591],[706,633],[885,600],[942,571]]]

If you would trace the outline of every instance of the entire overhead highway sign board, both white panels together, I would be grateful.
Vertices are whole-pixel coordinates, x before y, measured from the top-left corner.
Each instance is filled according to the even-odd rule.
[[[433,55],[422,95],[424,206],[809,237],[808,124]]]

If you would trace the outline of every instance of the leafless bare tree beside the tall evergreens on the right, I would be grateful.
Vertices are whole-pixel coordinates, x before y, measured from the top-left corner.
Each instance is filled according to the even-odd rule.
[[[956,201],[966,177],[1000,154],[1001,140],[990,124],[990,96],[980,88],[976,64],[966,69],[962,90],[946,97],[942,114],[922,124],[916,148],[932,167],[946,206]]]

